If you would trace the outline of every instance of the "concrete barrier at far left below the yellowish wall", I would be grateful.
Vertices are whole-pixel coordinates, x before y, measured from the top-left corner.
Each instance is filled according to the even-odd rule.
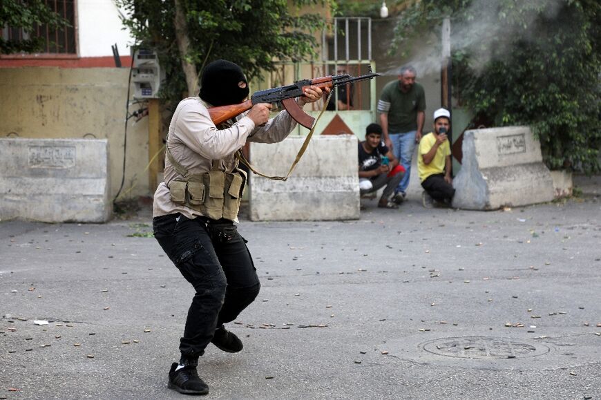
[[[106,222],[108,141],[0,138],[0,218]]]

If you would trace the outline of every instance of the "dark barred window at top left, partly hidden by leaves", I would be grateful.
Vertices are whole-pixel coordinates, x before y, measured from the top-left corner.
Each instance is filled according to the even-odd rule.
[[[46,6],[68,21],[63,28],[50,28],[46,24],[36,23],[32,32],[22,28],[4,26],[2,37],[12,41],[26,41],[39,37],[43,43],[37,55],[77,55],[75,9],[77,0],[44,0]]]

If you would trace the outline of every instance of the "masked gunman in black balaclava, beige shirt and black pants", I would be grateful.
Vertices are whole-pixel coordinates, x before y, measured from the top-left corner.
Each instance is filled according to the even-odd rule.
[[[242,69],[230,61],[208,64],[201,85],[200,96],[183,99],[171,119],[164,182],[153,207],[155,238],[195,289],[180,361],[169,371],[169,388],[186,394],[209,392],[196,370],[209,343],[225,352],[242,350],[225,324],[254,301],[260,288],[246,240],[234,225],[247,180],[235,153],[247,141],[280,142],[296,126],[287,111],[269,119],[271,104],[265,103],[215,126],[208,108],[239,104],[249,95]],[[322,95],[320,88],[308,86],[296,102],[302,108]]]

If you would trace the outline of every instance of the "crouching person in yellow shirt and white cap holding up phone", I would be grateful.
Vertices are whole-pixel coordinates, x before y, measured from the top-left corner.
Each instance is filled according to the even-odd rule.
[[[434,132],[419,142],[417,171],[422,193],[423,207],[432,207],[431,199],[439,205],[450,205],[455,189],[452,187],[450,145],[447,131],[450,113],[445,108],[434,112]]]

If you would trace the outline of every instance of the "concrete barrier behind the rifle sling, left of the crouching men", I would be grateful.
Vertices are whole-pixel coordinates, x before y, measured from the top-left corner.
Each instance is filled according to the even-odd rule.
[[[285,175],[304,140],[251,143],[251,162],[267,175]],[[359,219],[357,146],[354,135],[317,136],[287,181],[251,174],[251,220]]]

